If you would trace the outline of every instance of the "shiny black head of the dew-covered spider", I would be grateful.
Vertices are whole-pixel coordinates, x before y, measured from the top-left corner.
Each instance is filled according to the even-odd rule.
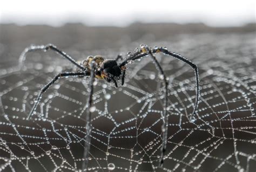
[[[102,63],[100,70],[102,72],[101,75],[107,82],[111,82],[113,78],[119,79],[120,75],[122,74],[116,60],[105,60]]]

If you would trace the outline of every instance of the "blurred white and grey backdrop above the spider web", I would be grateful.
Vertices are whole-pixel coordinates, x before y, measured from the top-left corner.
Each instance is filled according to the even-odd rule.
[[[189,38],[191,34],[254,31],[253,0],[122,3],[31,0],[4,1],[0,7],[0,39],[9,44],[1,47],[8,53],[49,42],[62,48],[72,45],[74,51],[95,47],[120,49],[134,41],[140,44],[144,40],[176,41],[174,38]]]

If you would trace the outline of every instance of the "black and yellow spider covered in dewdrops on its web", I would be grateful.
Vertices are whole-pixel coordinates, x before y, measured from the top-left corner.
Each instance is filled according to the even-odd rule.
[[[125,71],[126,71],[126,66],[128,64],[133,63],[137,59],[144,58],[146,56],[150,56],[151,60],[155,64],[158,72],[163,76],[163,83],[164,83],[164,91],[165,91],[165,97],[163,100],[163,125],[161,126],[162,128],[162,134],[163,134],[163,142],[161,144],[160,148],[160,159],[159,159],[159,166],[163,166],[164,162],[164,153],[166,150],[166,144],[167,144],[167,129],[168,129],[168,118],[167,118],[167,96],[168,96],[168,82],[166,80],[166,75],[164,73],[163,68],[157,61],[156,57],[154,54],[156,53],[163,53],[169,56],[172,56],[173,58],[176,58],[178,60],[181,60],[188,65],[190,65],[196,75],[196,87],[197,87],[197,97],[196,97],[196,102],[194,104],[194,110],[192,113],[192,116],[196,113],[197,107],[198,107],[198,101],[199,101],[199,74],[198,74],[198,67],[196,64],[194,64],[192,61],[187,60],[183,56],[171,52],[167,50],[166,47],[148,47],[147,45],[140,45],[138,48],[134,50],[134,52],[129,52],[127,53],[127,56],[123,60],[122,55],[118,55],[116,59],[110,59],[106,60],[100,55],[96,56],[88,56],[86,60],[82,62],[77,62],[75,61],[71,56],[66,54],[65,52],[61,51],[58,49],[55,45],[48,44],[48,45],[41,45],[41,46],[30,46],[24,49],[22,52],[20,58],[19,58],[19,64],[23,66],[23,63],[26,58],[26,53],[28,52],[35,52],[35,51],[48,51],[52,50],[53,52],[56,52],[57,54],[60,54],[65,58],[66,60],[69,60],[71,63],[73,63],[78,70],[74,72],[64,72],[64,73],[59,73],[55,77],[52,78],[52,80],[46,84],[41,91],[39,92],[39,95],[36,99],[35,104],[33,104],[32,110],[29,113],[29,116],[26,119],[30,119],[33,114],[35,114],[36,107],[39,103],[39,101],[42,98],[42,95],[48,88],[55,83],[59,78],[61,77],[89,77],[90,82],[89,82],[89,98],[87,100],[87,109],[86,109],[86,135],[87,137],[85,138],[85,149],[84,149],[84,161],[83,161],[83,169],[87,168],[87,156],[90,151],[90,134],[91,134],[91,105],[92,105],[92,95],[93,95],[93,82],[95,81],[95,78],[98,80],[105,80],[106,82],[113,82],[116,88],[118,88],[117,80],[121,80],[122,85],[124,85],[125,82]],[[117,63],[117,61],[121,59],[123,62]]]

